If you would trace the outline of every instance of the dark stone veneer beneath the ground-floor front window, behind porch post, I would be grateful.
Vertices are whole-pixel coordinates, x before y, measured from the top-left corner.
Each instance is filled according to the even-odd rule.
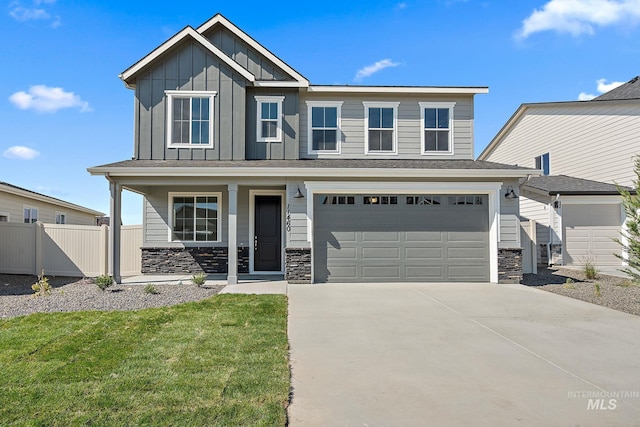
[[[142,273],[227,273],[227,247],[142,248]],[[238,273],[249,272],[249,248],[238,248]]]

